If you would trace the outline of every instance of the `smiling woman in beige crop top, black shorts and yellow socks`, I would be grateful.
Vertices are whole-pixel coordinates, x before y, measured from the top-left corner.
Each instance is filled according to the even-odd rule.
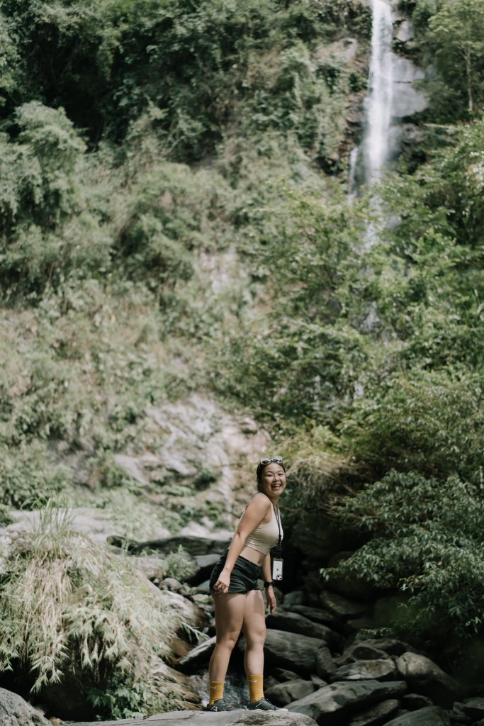
[[[249,709],[277,709],[263,695],[266,613],[258,578],[262,574],[266,602],[276,608],[271,576],[270,550],[282,541],[279,497],[286,487],[286,470],[281,457],[261,459],[257,468],[258,493],[250,499],[240,518],[229,550],[222,555],[210,577],[215,603],[217,640],[210,658],[210,700],[208,711],[230,711],[223,698],[223,684],[229,659],[240,631],[245,635],[245,674],[249,686]]]

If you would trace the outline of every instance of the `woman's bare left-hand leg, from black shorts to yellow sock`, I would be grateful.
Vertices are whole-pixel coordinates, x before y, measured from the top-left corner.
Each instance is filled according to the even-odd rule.
[[[217,642],[208,666],[211,681],[225,680],[231,652],[242,629],[246,597],[245,593],[213,596]]]

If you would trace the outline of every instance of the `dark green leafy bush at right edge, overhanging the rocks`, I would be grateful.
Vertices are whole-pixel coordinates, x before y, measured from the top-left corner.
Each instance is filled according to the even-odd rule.
[[[478,632],[484,607],[483,590],[476,587],[484,574],[482,486],[391,471],[340,507],[343,520],[358,523],[372,539],[332,572],[409,591],[393,623],[405,635],[442,644],[453,632]]]

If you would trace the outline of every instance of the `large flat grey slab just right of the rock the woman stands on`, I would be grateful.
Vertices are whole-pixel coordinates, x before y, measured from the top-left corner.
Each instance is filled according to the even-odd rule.
[[[311,716],[318,724],[341,726],[357,711],[389,698],[398,698],[405,691],[406,683],[403,681],[332,683],[291,703],[288,708],[291,712]]]

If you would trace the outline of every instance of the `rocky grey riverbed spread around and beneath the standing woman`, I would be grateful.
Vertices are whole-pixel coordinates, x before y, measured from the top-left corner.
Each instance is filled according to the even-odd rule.
[[[119,544],[122,544],[121,542]],[[140,552],[147,543],[131,542],[131,552]],[[157,576],[157,554],[165,555],[180,545],[186,550],[190,571],[185,582]],[[223,540],[197,537],[171,537],[149,542],[155,554],[135,556],[137,565],[163,592],[163,597],[182,609],[184,620],[203,632],[193,647],[186,632],[173,634],[176,663],[173,674],[184,683],[192,706],[183,711],[158,714],[147,719],[155,726],[181,723],[247,724],[265,726],[462,726],[484,725],[484,698],[479,690],[467,692],[425,653],[393,637],[369,637],[367,626],[374,617],[375,603],[355,600],[330,590],[279,592],[279,607],[267,616],[266,696],[282,711],[253,713],[234,703],[237,710],[226,714],[202,711],[200,694],[195,692],[192,674],[206,668],[215,643],[213,605],[208,595],[208,574]],[[234,667],[244,649],[243,637],[234,653]],[[190,693],[192,689],[192,693]],[[56,688],[57,715],[94,726],[99,722],[75,719],[67,701],[70,693]],[[240,694],[240,700],[243,699]],[[285,710],[287,709],[287,710]],[[81,712],[81,711],[80,711]],[[67,716],[67,717],[66,717]],[[51,723],[52,723],[51,722]],[[143,723],[125,719],[123,726]],[[104,726],[116,722],[104,722]],[[20,696],[0,691],[1,726],[46,726],[49,721]]]

